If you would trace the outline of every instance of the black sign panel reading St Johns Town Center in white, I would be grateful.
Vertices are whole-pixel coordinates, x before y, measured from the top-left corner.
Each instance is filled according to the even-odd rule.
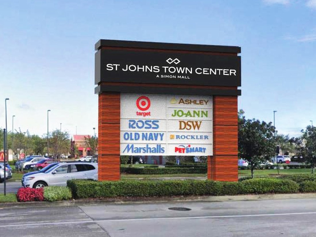
[[[100,82],[238,87],[240,56],[101,48],[95,53],[95,84]]]

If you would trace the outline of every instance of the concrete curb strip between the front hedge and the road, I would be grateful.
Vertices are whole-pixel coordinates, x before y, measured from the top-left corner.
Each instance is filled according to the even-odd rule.
[[[316,193],[294,194],[259,194],[259,195],[235,195],[235,196],[186,196],[186,197],[161,197],[161,198],[116,198],[116,199],[79,199],[58,202],[25,202],[25,203],[0,203],[0,209],[50,207],[50,206],[82,206],[100,204],[145,204],[165,202],[224,202],[224,201],[250,201],[250,200],[278,200],[316,198]]]

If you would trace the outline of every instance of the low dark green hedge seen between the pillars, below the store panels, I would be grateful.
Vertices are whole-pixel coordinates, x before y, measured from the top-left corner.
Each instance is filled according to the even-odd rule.
[[[127,174],[175,174],[175,173],[207,173],[207,167],[191,168],[135,168],[121,167],[121,173]]]

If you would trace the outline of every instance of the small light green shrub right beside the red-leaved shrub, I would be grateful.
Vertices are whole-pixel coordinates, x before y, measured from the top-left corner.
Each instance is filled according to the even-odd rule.
[[[69,187],[47,186],[44,187],[44,198],[46,201],[62,201],[71,199]]]

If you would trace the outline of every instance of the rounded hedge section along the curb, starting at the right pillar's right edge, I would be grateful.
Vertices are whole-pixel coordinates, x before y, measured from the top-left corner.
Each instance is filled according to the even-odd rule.
[[[258,178],[241,181],[240,193],[293,193],[299,191],[299,185],[288,179]]]

